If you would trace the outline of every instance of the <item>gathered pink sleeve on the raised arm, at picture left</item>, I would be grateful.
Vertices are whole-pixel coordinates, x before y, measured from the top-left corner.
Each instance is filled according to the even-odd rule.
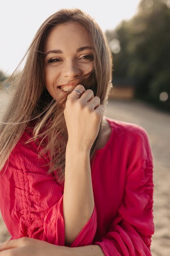
[[[63,187],[47,175],[46,164],[36,150],[17,144],[0,176],[0,208],[11,239],[27,236],[64,246]],[[96,215],[94,207],[71,246],[92,244]]]

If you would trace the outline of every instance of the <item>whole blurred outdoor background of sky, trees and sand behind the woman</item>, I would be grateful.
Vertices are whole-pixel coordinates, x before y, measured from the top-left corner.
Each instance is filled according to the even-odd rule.
[[[1,81],[20,63],[41,23],[58,9],[72,7],[95,18],[113,54],[106,116],[139,124],[148,132],[155,184],[151,250],[153,256],[170,256],[170,0],[1,3]],[[1,112],[9,92],[8,85],[0,91]],[[8,237],[0,218],[0,242]]]

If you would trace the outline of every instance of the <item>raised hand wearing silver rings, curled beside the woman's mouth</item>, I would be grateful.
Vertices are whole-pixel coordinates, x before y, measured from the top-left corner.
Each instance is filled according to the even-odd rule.
[[[90,150],[95,141],[104,113],[99,97],[94,97],[92,90],[85,90],[83,85],[77,85],[76,92],[71,92],[66,101],[64,117],[68,130],[68,143],[77,149]]]

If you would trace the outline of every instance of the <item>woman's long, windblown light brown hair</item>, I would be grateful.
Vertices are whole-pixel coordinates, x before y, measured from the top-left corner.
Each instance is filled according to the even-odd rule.
[[[63,113],[66,99],[56,102],[46,90],[43,47],[49,31],[55,25],[67,22],[78,22],[89,34],[94,68],[88,78],[80,79],[85,89],[91,88],[94,95],[100,98],[101,104],[106,104],[111,84],[112,60],[102,30],[91,16],[79,9],[62,9],[54,13],[44,21],[33,38],[21,74],[14,79],[15,71],[7,81],[15,88],[15,92],[0,125],[0,170],[24,130],[31,127],[32,140],[43,146],[40,155],[50,153],[49,172],[57,170],[58,181],[64,181],[68,140]],[[99,136],[91,148],[91,158],[98,140]]]

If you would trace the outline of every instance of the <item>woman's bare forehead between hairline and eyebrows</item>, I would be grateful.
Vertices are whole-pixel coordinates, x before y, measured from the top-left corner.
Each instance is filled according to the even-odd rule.
[[[56,25],[51,29],[44,43],[44,50],[48,51],[56,47],[83,47],[91,46],[90,37],[77,22],[69,22]]]

